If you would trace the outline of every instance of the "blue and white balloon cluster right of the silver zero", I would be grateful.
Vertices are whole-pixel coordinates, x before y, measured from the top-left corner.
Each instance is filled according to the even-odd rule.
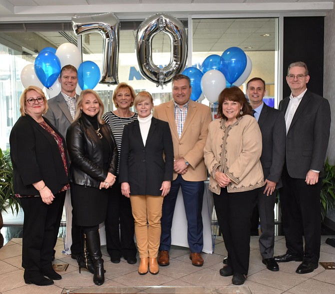
[[[183,74],[191,81],[193,101],[203,96],[209,102],[216,102],[219,93],[226,87],[241,85],[249,76],[252,63],[249,56],[238,47],[227,48],[222,55],[211,54],[201,65],[201,70],[195,66],[187,67]]]

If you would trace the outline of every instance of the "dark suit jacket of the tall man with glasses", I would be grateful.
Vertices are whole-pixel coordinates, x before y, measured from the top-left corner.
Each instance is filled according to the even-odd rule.
[[[289,97],[279,103],[287,110]],[[327,99],[308,89],[297,107],[286,135],[286,166],[290,177],[305,178],[309,169],[323,170],[330,132]]]

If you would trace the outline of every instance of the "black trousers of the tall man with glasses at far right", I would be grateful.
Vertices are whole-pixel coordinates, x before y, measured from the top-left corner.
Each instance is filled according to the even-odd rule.
[[[287,253],[303,256],[303,261],[317,263],[320,255],[322,178],[317,184],[307,185],[305,179],[290,177],[284,166],[281,179],[281,221]]]

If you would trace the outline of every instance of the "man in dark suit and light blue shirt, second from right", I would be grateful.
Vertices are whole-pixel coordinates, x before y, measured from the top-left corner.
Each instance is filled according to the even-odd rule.
[[[260,219],[259,249],[262,262],[272,271],[279,270],[273,258],[274,247],[274,204],[276,189],[281,187],[281,171],[285,158],[285,119],[281,111],[263,102],[265,81],[260,77],[251,78],[246,92],[253,109],[253,116],[259,124],[262,135],[260,162],[265,185],[258,191],[257,207]]]

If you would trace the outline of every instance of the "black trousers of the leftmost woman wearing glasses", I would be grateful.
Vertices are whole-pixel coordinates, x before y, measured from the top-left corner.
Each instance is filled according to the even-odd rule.
[[[51,204],[41,197],[20,198],[24,212],[22,233],[22,267],[39,271],[51,265],[55,231],[59,230],[59,211],[63,209],[65,191],[54,194]]]

